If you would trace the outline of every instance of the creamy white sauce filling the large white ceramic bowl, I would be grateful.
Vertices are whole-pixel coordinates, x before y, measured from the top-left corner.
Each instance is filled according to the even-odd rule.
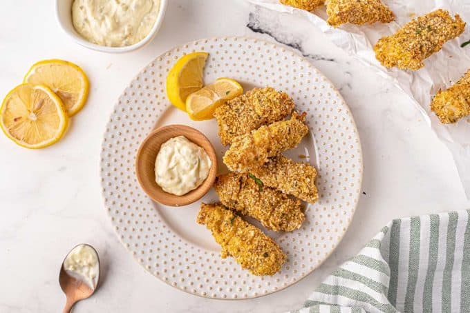
[[[149,34],[159,9],[160,0],[75,0],[73,27],[100,46],[131,46]]]

